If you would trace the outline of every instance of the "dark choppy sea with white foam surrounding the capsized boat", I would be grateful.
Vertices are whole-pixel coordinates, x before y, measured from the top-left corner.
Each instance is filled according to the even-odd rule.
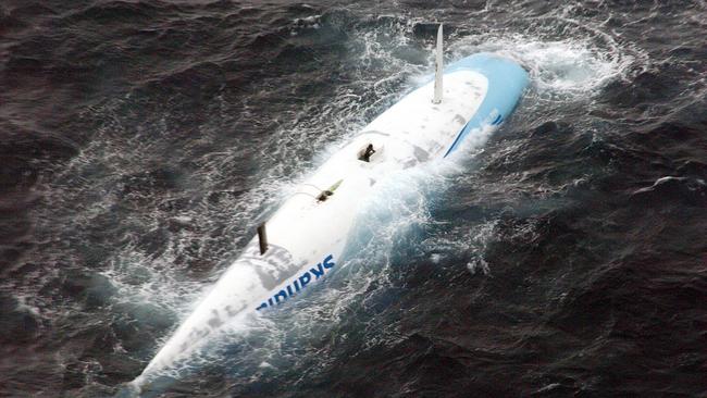
[[[513,116],[145,396],[707,394],[704,1],[3,0],[0,395],[121,391],[439,21],[530,72]]]

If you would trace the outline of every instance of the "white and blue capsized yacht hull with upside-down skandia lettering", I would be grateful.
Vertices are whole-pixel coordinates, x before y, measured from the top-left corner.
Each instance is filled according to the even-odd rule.
[[[431,82],[376,117],[299,185],[268,221],[264,254],[255,237],[144,375],[185,358],[222,324],[283,303],[340,266],[359,204],[377,182],[446,157],[467,135],[500,124],[526,78],[511,61],[473,55],[447,70],[439,103],[433,103]],[[374,152],[362,160],[369,146]]]

